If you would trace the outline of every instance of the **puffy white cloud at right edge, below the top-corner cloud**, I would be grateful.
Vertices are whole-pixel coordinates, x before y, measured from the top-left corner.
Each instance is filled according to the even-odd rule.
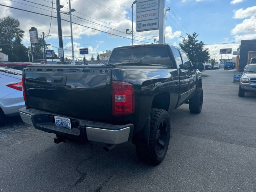
[[[256,18],[252,16],[250,19],[245,19],[242,23],[237,24],[231,30],[231,33],[233,35],[239,33],[256,33]]]

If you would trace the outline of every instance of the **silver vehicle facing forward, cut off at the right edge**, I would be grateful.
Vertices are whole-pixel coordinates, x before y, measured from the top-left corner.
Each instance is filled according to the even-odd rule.
[[[245,92],[256,92],[256,64],[246,65],[240,79],[238,96],[244,97]]]

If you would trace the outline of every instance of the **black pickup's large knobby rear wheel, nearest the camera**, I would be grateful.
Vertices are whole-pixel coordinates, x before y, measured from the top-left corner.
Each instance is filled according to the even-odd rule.
[[[160,164],[168,150],[171,124],[168,112],[153,108],[150,112],[150,138],[148,146],[136,145],[136,154],[142,160]]]

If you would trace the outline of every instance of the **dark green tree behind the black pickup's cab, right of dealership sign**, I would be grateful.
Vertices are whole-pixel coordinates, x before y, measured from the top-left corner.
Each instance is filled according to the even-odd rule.
[[[180,48],[186,52],[192,63],[195,62],[206,62],[210,59],[210,55],[207,49],[204,49],[204,43],[202,41],[198,42],[196,38],[197,33],[193,33],[192,36],[187,34],[187,38],[182,39]]]

